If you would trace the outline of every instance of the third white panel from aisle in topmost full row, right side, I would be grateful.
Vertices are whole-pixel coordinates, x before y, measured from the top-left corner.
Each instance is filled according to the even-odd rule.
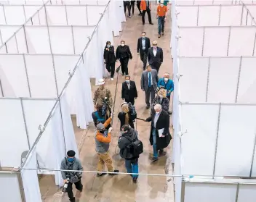
[[[241,25],[243,6],[221,7],[220,26]]]

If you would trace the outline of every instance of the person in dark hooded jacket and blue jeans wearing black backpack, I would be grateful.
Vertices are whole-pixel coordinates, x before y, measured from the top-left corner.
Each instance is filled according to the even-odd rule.
[[[121,127],[121,137],[119,138],[120,156],[125,159],[125,167],[128,173],[132,174],[132,181],[137,183],[139,176],[138,159],[143,153],[143,143],[137,138],[137,131],[129,125]]]

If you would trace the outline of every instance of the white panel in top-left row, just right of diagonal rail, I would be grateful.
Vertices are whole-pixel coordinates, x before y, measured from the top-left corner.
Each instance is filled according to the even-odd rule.
[[[63,7],[46,7],[47,20],[49,25],[67,25],[65,6]]]

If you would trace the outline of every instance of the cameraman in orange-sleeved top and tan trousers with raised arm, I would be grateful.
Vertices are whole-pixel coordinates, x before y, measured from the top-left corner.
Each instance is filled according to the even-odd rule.
[[[108,130],[105,130],[108,125],[111,124],[113,115],[111,114],[111,117],[109,117],[105,123],[98,123],[97,124],[97,132],[95,135],[95,146],[96,146],[96,152],[97,156],[99,157],[99,161],[97,163],[97,177],[103,176],[106,173],[100,173],[104,172],[105,164],[108,168],[108,172],[116,172],[116,174],[119,172],[119,170],[115,169],[113,170],[113,164],[111,155],[109,153],[109,144],[111,143],[111,131],[112,127],[110,127]],[[113,174],[110,174],[113,175]]]

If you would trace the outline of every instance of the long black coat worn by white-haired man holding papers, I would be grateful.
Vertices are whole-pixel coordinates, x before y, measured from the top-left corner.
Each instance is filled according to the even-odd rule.
[[[151,117],[148,117],[146,119],[146,122],[151,122],[151,134],[150,134],[150,142],[151,146],[153,145],[153,120],[155,117],[156,112],[153,111]],[[164,128],[164,132],[162,135],[164,135],[163,138],[159,138],[159,132],[158,130]],[[172,136],[169,132],[169,114],[167,111],[161,110],[161,113],[159,115],[159,119],[156,122],[156,149],[159,150],[160,148],[166,148],[170,141],[172,140]]]

